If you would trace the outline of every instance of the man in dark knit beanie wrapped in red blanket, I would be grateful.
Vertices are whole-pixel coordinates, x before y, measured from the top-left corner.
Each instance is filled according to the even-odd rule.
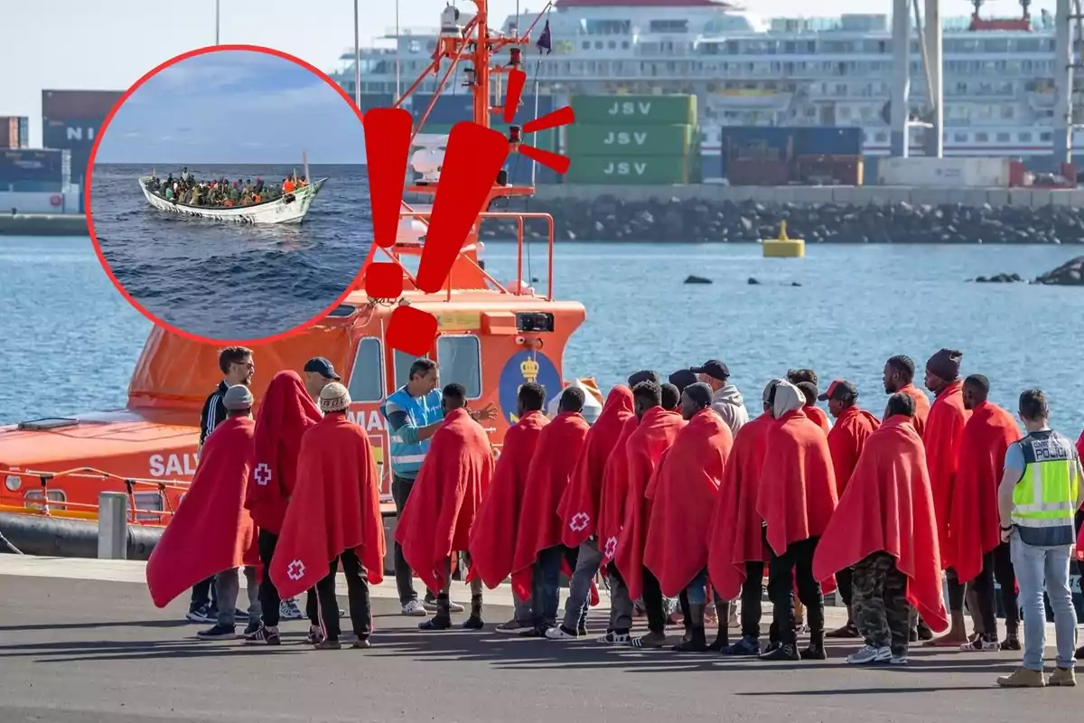
[[[930,489],[933,491],[933,511],[938,516],[938,540],[941,553],[952,545],[949,527],[949,505],[953,498],[956,469],[959,465],[959,442],[964,436],[964,425],[971,413],[964,406],[964,383],[959,378],[959,365],[964,354],[955,349],[941,349],[926,362],[926,388],[933,392],[934,400],[926,418],[922,444],[926,448],[926,466],[930,473]],[[943,637],[928,644],[937,647],[958,647],[967,642],[964,618],[965,586],[956,578],[956,571],[942,559],[947,568],[949,614],[952,627]]]

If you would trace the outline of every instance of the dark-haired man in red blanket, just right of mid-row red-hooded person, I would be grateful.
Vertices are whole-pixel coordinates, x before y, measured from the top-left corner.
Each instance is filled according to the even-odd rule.
[[[643,596],[647,610],[648,633],[629,640],[633,647],[661,647],[666,644],[667,616],[659,581],[644,568],[644,545],[651,515],[651,476],[662,453],[670,449],[685,421],[680,414],[662,408],[662,389],[654,382],[641,382],[632,388],[633,406],[640,425],[625,443],[628,501],[624,524],[610,565],[610,601],[628,606]]]

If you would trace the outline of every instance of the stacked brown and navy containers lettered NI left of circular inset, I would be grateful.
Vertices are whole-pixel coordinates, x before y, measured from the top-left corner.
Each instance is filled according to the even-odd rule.
[[[41,91],[41,141],[72,152],[72,182],[82,185],[98,129],[124,95],[116,90]]]

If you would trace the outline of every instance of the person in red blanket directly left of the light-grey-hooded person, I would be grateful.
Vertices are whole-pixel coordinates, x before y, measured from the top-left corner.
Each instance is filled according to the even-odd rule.
[[[772,416],[775,388],[780,382],[767,383],[761,396],[763,412],[734,438],[712,511],[708,577],[723,599],[741,596],[741,640],[730,645],[728,631],[721,625],[719,640],[711,646],[727,656],[760,654],[762,580],[767,553],[764,520],[757,513],[757,491],[767,453],[767,432],[775,423]],[[776,637],[777,634],[771,642],[776,642]]]

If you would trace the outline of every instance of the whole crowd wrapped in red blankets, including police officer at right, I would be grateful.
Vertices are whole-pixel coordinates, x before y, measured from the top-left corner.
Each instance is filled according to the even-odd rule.
[[[1009,519],[1016,519],[1012,487],[1023,463],[1010,469],[1006,455],[1030,436],[1049,432],[1049,449],[1064,438],[1046,426],[1045,396],[1036,389],[1021,395],[1021,434],[1012,415],[988,400],[985,377],[960,378],[962,357],[942,349],[927,362],[932,404],[914,385],[914,362],[889,359],[880,417],[859,409],[857,390],[847,380],[817,395],[811,370],[772,379],[752,419],[720,409],[741,399],[718,361],[682,370],[666,384],[655,372],[633,374],[628,386],[609,391],[593,425],[582,415],[581,389],[564,389],[550,418],[546,390],[525,384],[517,422],[495,462],[463,387],[448,385],[443,423],[396,531],[406,563],[437,594],[435,617],[420,628],[451,627],[452,570],[464,553],[473,593],[468,629],[483,625],[482,585],[493,589],[511,578],[517,615],[499,632],[580,638],[603,572],[610,614],[599,643],[664,647],[663,597],[676,596],[685,628],[672,646],[678,651],[823,660],[826,637],[855,638],[864,645],[847,662],[906,664],[909,644],[919,640],[967,651],[1019,650],[1017,594],[1024,592],[1024,578],[1020,585],[1014,578]],[[817,400],[827,402],[835,424]],[[369,647],[369,583],[383,578],[385,543],[376,467],[367,436],[346,416],[349,393],[330,383],[318,408],[297,374],[281,372],[255,422],[250,396],[247,404],[228,404],[230,418],[208,439],[188,498],[147,566],[152,596],[165,605],[193,581],[259,553],[261,601],[264,591],[269,603],[278,603],[314,589],[310,640],[318,648],[337,648],[334,591],[341,565],[353,645]],[[1076,509],[1084,494],[1080,454],[1061,452]],[[229,540],[210,551],[206,537],[222,531]],[[192,556],[196,547],[201,554]],[[179,559],[186,560],[182,570]],[[1061,590],[1050,559],[1046,592],[1061,623],[1067,601],[1074,615],[1068,569]],[[570,583],[558,620],[563,570]],[[765,577],[773,615],[762,648]],[[1004,638],[994,614],[995,579]],[[1057,670],[1048,683],[1043,679],[1042,576],[1037,604],[1035,583],[1027,584],[1024,622],[1028,633],[1037,625],[1036,640],[1024,635],[1024,667],[998,684],[1073,685],[1074,637],[1062,640],[1063,625]],[[826,632],[824,594],[833,590],[847,605],[848,621]],[[648,632],[641,636],[632,635],[636,601],[647,612]],[[738,601],[741,634],[732,643],[728,623]],[[796,601],[805,625],[796,623]],[[709,643],[706,621],[712,617],[718,633]],[[808,645],[799,648],[798,634],[806,628]],[[276,624],[267,620],[248,637],[280,642]]]

